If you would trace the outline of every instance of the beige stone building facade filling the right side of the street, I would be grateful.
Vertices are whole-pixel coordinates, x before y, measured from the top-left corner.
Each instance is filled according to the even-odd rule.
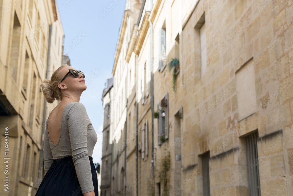
[[[118,83],[113,68],[114,96],[135,88],[125,195],[293,194],[292,13],[291,1],[142,1]]]

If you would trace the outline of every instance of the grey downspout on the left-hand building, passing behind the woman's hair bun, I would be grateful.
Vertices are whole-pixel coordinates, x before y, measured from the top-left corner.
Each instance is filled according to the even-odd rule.
[[[51,37],[52,37],[52,25],[49,25],[49,40],[48,40],[48,52],[47,52],[47,70],[46,78],[49,78],[49,69],[50,69],[50,52],[51,52]],[[46,124],[46,113],[47,113],[47,101],[44,97],[43,105],[43,120],[42,120],[42,134],[41,134],[41,150],[40,150],[40,160],[39,160],[39,171],[38,171],[38,188],[42,182],[43,168],[44,168],[44,140],[43,135],[45,133],[45,124]]]

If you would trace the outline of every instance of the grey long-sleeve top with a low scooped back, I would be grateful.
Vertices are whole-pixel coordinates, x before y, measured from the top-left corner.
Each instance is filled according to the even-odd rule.
[[[80,102],[69,102],[65,105],[61,118],[59,140],[56,145],[48,136],[48,119],[44,138],[45,175],[51,167],[53,159],[72,156],[82,193],[95,190],[88,156],[92,157],[98,137],[88,118],[86,108]]]

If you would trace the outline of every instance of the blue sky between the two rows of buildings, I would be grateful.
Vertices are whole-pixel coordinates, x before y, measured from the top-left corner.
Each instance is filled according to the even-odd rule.
[[[101,163],[101,97],[106,79],[112,76],[113,51],[116,48],[125,0],[57,0],[57,5],[65,35],[64,53],[68,54],[71,66],[83,71],[86,76],[87,88],[81,94],[80,102],[86,107],[88,117],[98,135],[93,162]],[[66,50],[67,47],[70,51]]]

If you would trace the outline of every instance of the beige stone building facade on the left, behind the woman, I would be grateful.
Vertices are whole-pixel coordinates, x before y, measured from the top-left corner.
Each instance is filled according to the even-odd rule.
[[[0,195],[35,195],[44,176],[45,120],[54,108],[40,83],[62,64],[64,33],[54,0],[0,4],[0,180],[7,184]]]

